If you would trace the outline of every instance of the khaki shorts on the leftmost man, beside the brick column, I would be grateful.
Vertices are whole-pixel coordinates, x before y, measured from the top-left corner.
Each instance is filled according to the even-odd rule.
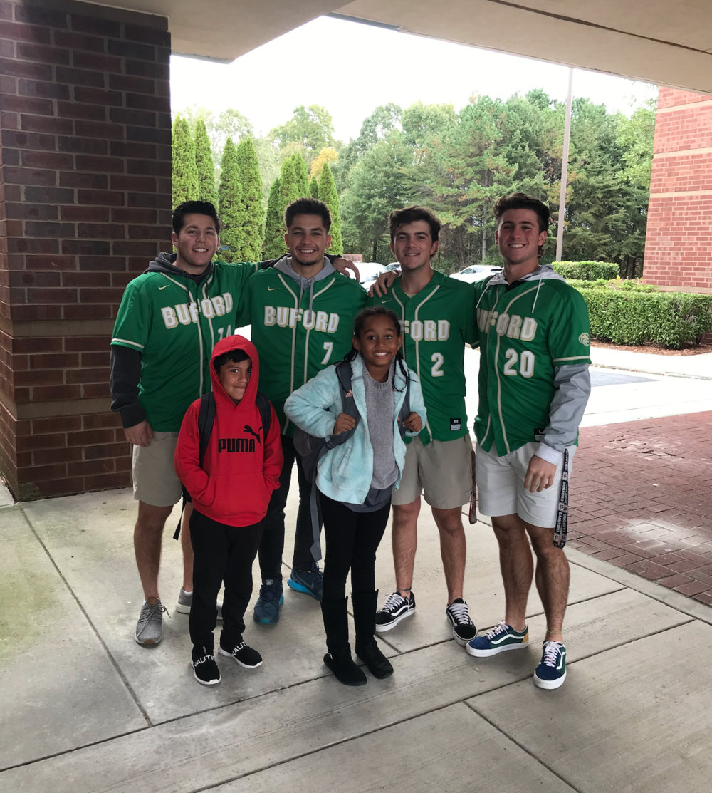
[[[181,500],[173,455],[177,432],[154,432],[150,446],[133,447],[133,497],[151,507],[172,507]]]

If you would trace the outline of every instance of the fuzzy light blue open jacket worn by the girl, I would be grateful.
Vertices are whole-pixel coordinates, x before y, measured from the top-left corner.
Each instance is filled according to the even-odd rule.
[[[423,424],[427,417],[423,392],[420,389],[418,376],[404,362],[405,370],[411,379],[411,410],[419,414]],[[363,504],[368,495],[373,478],[373,447],[369,439],[368,416],[366,416],[366,388],[363,385],[363,361],[358,355],[351,362],[353,377],[351,388],[354,402],[361,415],[354,435],[327,451],[317,466],[316,486],[325,496],[346,504]],[[405,462],[405,443],[398,429],[398,414],[405,398],[406,381],[396,363],[394,377],[396,389],[393,397],[395,411],[393,413],[393,456],[398,466],[396,488],[400,485]],[[320,371],[316,377],[302,385],[289,395],[285,402],[285,414],[297,427],[314,435],[316,438],[330,438],[336,417],[341,412],[341,389],[335,366]],[[418,435],[408,432],[406,435]]]

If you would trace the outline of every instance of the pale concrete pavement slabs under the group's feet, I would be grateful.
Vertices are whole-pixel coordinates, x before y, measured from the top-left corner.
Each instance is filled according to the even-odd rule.
[[[446,625],[437,531],[423,511],[418,611],[381,641],[392,678],[339,684],[321,661],[319,604],[286,590],[277,626],[247,627],[264,665],[247,672],[221,657],[223,680],[206,689],[174,613],[180,549],[168,531],[173,619],[159,646],[133,641],[135,510],[126,491],[0,509],[0,790],[710,791],[712,610],[702,603],[569,550],[568,677],[541,691],[531,682],[545,631],[538,597],[529,649],[469,657]],[[465,597],[482,630],[503,616],[497,549],[483,523],[467,531]],[[393,585],[389,545],[381,598]]]

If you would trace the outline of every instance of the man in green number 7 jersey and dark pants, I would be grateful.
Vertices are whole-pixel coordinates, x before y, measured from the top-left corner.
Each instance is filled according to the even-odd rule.
[[[252,343],[263,362],[260,388],[277,411],[284,453],[280,487],[272,493],[259,546],[262,588],[254,616],[267,625],[278,622],[283,600],[285,505],[295,461],[300,499],[287,583],[322,599],[322,573],[312,554],[312,487],[294,448],[294,425],[285,417],[285,400],[350,351],[354,318],[366,303],[366,291],[358,281],[336,272],[324,255],[331,245],[331,214],[326,204],[315,198],[294,201],[285,211],[285,225],[289,256],[247,281],[235,319],[238,327],[252,325]]]

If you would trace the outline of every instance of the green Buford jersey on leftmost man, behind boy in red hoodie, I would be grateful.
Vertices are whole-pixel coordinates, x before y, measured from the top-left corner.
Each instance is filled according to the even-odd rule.
[[[212,347],[235,332],[240,294],[259,267],[214,264],[200,284],[144,273],[121,298],[111,343],[140,351],[139,401],[156,431],[180,431],[189,404],[211,389]]]

